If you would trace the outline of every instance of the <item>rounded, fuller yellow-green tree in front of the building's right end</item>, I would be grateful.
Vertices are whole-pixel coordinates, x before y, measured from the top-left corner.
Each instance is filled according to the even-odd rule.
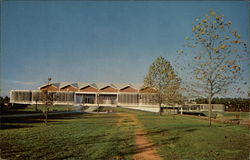
[[[180,79],[174,72],[170,62],[164,57],[158,57],[148,69],[144,78],[144,86],[155,89],[156,101],[159,104],[159,113],[161,115],[161,105],[171,103],[175,100],[180,85]]]

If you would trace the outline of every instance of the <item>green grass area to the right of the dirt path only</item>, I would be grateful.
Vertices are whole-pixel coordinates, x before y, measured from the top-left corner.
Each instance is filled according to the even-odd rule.
[[[124,111],[124,109],[119,109]],[[127,111],[127,110],[126,110]],[[248,159],[249,132],[246,126],[213,123],[185,116],[127,111],[137,115],[147,136],[164,159]]]

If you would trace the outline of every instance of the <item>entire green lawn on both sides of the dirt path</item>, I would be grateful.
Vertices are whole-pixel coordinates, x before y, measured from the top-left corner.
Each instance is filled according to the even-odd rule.
[[[244,160],[249,156],[246,126],[213,123],[188,116],[114,108],[136,115],[146,136],[164,159]],[[109,114],[53,115],[1,119],[1,158],[7,159],[132,159],[134,129]]]

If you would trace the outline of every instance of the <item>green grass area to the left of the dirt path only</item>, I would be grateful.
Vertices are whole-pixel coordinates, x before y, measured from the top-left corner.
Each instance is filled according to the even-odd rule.
[[[1,158],[130,159],[133,127],[117,126],[116,114],[74,114],[2,119]]]

